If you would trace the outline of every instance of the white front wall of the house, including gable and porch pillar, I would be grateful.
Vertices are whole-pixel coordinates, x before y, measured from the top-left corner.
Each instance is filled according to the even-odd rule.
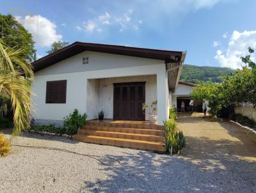
[[[68,72],[73,65],[82,65],[82,58],[84,56],[83,53],[77,54],[72,58],[68,58],[56,65],[49,66],[35,73],[35,81],[31,85],[31,91],[35,93],[35,95],[32,96],[34,102],[33,106],[36,109],[36,112],[31,112],[31,114],[35,119],[63,120],[63,117],[67,116],[75,108],[78,109],[80,113],[88,113],[88,111],[91,111],[94,117],[100,110],[100,107],[93,107],[94,110],[92,110],[92,105],[87,103],[87,97],[88,100],[90,100],[94,95],[97,95],[97,89],[93,89],[93,85],[97,85],[97,82],[88,82],[88,79],[130,77],[137,75],[156,76],[157,88],[151,85],[151,87],[156,90],[148,89],[148,91],[152,92],[150,98],[155,97],[155,92],[157,91],[157,116],[159,125],[163,124],[162,120],[168,118],[168,83],[164,61],[99,53],[99,56],[97,54],[92,55],[91,58],[89,58],[91,62],[88,64],[88,66],[99,66],[99,70],[90,67],[86,68],[87,70],[84,68],[84,71],[81,72]],[[97,59],[95,59],[95,57],[97,57]],[[97,63],[95,61],[97,61]],[[107,64],[111,64],[113,68],[101,69],[102,66]],[[106,66],[104,68],[106,68]],[[45,104],[46,82],[58,80],[67,80],[66,104]],[[87,95],[88,92],[92,92],[92,95]],[[95,100],[97,100],[97,98],[95,98]]]

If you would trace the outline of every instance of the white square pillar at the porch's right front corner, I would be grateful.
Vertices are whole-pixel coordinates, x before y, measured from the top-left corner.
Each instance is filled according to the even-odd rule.
[[[168,79],[165,65],[157,72],[157,125],[163,125],[163,121],[168,119]]]

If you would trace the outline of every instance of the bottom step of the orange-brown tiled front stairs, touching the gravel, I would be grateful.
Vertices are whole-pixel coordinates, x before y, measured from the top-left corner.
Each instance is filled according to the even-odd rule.
[[[106,144],[111,146],[120,146],[124,148],[136,148],[140,150],[152,150],[152,151],[164,151],[164,143],[143,141],[136,139],[124,139],[116,137],[102,137],[97,135],[83,135],[77,134],[72,136],[77,141],[83,141],[86,143]]]

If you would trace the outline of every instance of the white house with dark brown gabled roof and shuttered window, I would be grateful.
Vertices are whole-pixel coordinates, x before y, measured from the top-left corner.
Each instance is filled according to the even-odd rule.
[[[158,125],[163,125],[171,101],[185,96],[181,91],[186,85],[178,86],[185,56],[186,52],[75,42],[33,62],[32,116],[38,124],[61,125],[74,109],[86,112],[88,120],[97,119],[103,109],[109,119],[148,120],[141,105],[157,100]]]

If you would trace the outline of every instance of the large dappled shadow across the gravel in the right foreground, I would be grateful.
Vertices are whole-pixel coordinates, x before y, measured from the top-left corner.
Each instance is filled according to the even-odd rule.
[[[108,179],[86,181],[81,192],[255,191],[255,163],[223,152],[207,154],[200,160],[193,156],[157,155],[147,151],[113,158],[121,162],[103,169]]]

